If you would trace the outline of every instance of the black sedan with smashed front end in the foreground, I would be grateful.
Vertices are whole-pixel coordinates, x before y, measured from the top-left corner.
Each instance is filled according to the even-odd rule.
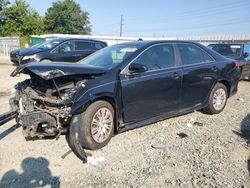
[[[203,109],[220,113],[237,92],[239,66],[198,43],[138,41],[76,64],[32,63],[10,100],[26,138],[68,133],[79,157],[114,133]]]

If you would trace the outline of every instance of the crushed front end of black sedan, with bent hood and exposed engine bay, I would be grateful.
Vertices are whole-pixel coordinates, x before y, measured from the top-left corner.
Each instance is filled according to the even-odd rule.
[[[54,137],[66,132],[71,122],[74,95],[83,93],[85,83],[105,70],[77,64],[30,63],[16,68],[11,76],[30,76],[15,86],[11,108],[26,138]]]

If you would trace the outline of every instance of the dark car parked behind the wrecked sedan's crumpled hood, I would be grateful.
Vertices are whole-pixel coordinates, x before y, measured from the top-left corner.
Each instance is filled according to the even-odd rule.
[[[31,48],[21,48],[10,53],[15,66],[31,62],[77,62],[107,46],[106,42],[88,39],[51,39]]]

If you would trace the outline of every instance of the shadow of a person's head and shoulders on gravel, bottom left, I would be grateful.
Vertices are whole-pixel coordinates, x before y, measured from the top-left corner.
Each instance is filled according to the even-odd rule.
[[[22,163],[23,172],[19,174],[14,169],[6,172],[0,180],[0,187],[60,187],[59,177],[52,176],[49,161],[43,157],[25,158]]]

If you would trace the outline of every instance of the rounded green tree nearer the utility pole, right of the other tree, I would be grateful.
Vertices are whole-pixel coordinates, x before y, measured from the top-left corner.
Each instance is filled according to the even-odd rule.
[[[82,11],[74,0],[54,2],[45,14],[45,31],[48,33],[90,34],[88,12]]]

